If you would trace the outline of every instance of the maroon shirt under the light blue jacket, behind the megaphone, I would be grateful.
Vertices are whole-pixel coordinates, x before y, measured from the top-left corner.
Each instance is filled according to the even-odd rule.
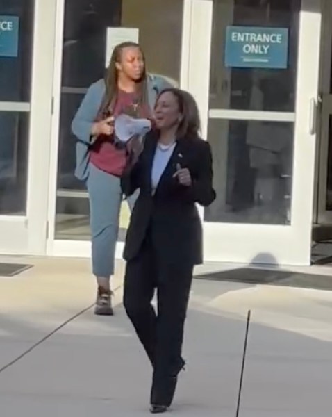
[[[135,93],[119,91],[112,112],[113,116],[117,117],[122,113],[133,111],[137,102]],[[150,117],[150,113],[148,106],[144,106],[144,108],[138,106],[136,110],[138,117]],[[90,163],[101,171],[121,177],[127,163],[126,149],[117,149],[112,142],[112,138],[97,139],[90,149]]]

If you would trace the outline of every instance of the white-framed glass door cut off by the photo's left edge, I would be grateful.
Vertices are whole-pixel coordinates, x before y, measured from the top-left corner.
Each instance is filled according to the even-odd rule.
[[[0,2],[1,254],[46,250],[54,12],[51,1]]]

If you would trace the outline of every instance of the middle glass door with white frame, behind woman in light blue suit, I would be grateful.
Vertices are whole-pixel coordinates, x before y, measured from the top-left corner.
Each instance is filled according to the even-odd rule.
[[[150,73],[186,86],[188,0],[58,0],[48,253],[90,256],[89,201],[74,177],[72,119],[89,85],[103,77],[107,28],[138,29]],[[167,42],[165,43],[165,39]],[[124,40],[124,39],[122,39]],[[163,54],[157,51],[163,50]],[[117,254],[129,213],[123,204]]]

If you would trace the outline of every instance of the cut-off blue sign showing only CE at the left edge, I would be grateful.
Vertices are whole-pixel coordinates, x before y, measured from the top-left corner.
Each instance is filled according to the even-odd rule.
[[[0,56],[16,58],[19,53],[19,17],[0,16]]]

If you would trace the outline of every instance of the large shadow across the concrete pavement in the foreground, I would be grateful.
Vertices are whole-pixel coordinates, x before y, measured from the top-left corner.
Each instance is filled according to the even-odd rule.
[[[216,297],[222,286],[214,286]],[[17,416],[24,409],[28,416],[88,417],[92,411],[97,417],[146,416],[151,368],[122,306],[116,311],[113,319],[84,313],[3,371],[1,414]],[[246,326],[242,313],[225,317],[222,308],[202,311],[192,303],[185,338],[188,369],[181,375],[174,414],[235,417]],[[284,320],[279,327],[292,317]],[[29,325],[6,315],[0,315],[0,329],[1,350],[28,335],[44,336],[38,322]],[[331,343],[297,330],[258,324],[253,313],[240,417],[329,416]]]

